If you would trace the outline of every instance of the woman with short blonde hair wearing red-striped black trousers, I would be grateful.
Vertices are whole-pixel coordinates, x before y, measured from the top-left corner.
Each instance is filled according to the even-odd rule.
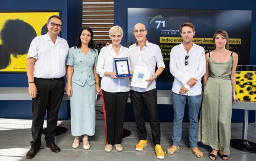
[[[105,152],[111,152],[112,146],[118,152],[123,150],[121,145],[122,129],[124,126],[125,107],[131,90],[129,77],[116,77],[114,58],[129,57],[129,50],[120,44],[123,30],[114,26],[109,30],[112,44],[103,47],[99,53],[96,71],[101,80],[101,96],[105,119]]]

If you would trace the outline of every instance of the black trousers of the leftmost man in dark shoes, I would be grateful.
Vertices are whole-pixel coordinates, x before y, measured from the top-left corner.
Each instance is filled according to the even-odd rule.
[[[37,96],[32,100],[32,137],[31,147],[41,147],[41,136],[44,124],[44,116],[47,111],[47,132],[44,139],[46,143],[54,143],[57,117],[64,94],[64,78],[48,80],[34,78],[37,86]]]

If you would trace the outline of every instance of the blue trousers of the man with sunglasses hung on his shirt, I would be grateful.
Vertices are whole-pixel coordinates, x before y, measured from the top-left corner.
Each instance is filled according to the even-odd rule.
[[[182,94],[173,93],[173,145],[179,146],[182,138],[182,121],[184,116],[184,109],[186,98],[189,105],[189,145],[191,148],[197,147],[198,141],[198,114],[201,104],[201,95],[186,96]]]

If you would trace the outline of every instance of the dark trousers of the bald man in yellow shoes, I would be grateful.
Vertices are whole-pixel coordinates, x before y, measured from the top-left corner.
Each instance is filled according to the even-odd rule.
[[[144,121],[143,103],[147,106],[150,118],[150,128],[154,145],[160,144],[160,122],[157,112],[157,90],[153,89],[145,92],[131,90],[131,103],[134,110],[134,119],[137,124],[138,134],[141,140],[147,139],[147,129]]]

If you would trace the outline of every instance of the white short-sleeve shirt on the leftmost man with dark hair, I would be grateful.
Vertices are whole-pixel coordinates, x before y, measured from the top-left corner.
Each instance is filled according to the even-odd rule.
[[[66,74],[66,57],[69,45],[57,37],[55,44],[47,34],[35,37],[28,50],[28,58],[35,58],[34,77],[60,78]]]

